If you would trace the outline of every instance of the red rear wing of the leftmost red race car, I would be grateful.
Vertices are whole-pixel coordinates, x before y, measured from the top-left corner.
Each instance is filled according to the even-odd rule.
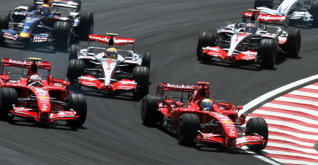
[[[51,63],[40,61],[40,60],[18,60],[18,59],[11,59],[11,58],[2,58],[0,63],[0,73],[3,74],[3,67],[4,66],[14,66],[19,68],[29,68],[31,63],[35,62],[35,64],[40,69],[47,69],[51,70]]]

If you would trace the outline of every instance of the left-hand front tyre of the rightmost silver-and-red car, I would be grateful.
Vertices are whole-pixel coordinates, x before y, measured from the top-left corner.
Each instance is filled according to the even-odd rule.
[[[211,61],[212,57],[202,53],[202,48],[215,46],[216,36],[214,33],[203,31],[200,34],[197,45],[197,58],[201,61]]]

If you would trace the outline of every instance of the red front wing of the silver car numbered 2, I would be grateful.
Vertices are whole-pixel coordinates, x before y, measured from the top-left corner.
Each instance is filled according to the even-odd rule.
[[[111,84],[104,84],[103,80],[110,80]],[[136,90],[137,83],[132,80],[123,79],[117,81],[115,79],[94,78],[93,76],[79,77],[79,84],[87,87],[95,87],[102,92],[113,92],[115,90]]]

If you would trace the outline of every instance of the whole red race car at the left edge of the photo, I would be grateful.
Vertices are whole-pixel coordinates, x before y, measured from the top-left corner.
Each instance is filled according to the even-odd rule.
[[[2,59],[0,64],[1,118],[12,120],[14,116],[19,116],[31,118],[39,123],[65,120],[69,126],[82,126],[87,112],[84,95],[70,94],[68,79],[52,77],[51,63],[40,60],[38,58]],[[22,68],[27,70],[27,73],[4,71],[4,67],[15,70],[17,70],[16,67]],[[41,71],[46,71],[47,74],[40,75]],[[22,77],[14,80],[11,76]],[[47,79],[42,80],[41,76]]]

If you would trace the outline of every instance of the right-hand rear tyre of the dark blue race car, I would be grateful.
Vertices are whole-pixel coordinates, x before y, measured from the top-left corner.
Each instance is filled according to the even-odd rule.
[[[88,35],[93,34],[94,15],[89,11],[79,11],[79,25],[74,27],[75,34],[79,35],[79,39],[88,40]]]

